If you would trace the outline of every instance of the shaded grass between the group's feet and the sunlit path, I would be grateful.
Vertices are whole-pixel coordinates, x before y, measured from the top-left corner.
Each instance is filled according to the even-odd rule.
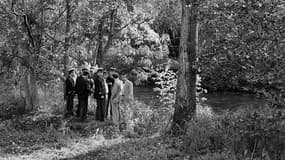
[[[103,135],[112,139],[115,127],[90,116],[86,122],[57,115],[25,115],[0,122],[1,156],[26,155],[42,149],[60,149],[71,142]]]

